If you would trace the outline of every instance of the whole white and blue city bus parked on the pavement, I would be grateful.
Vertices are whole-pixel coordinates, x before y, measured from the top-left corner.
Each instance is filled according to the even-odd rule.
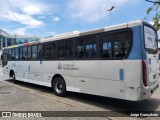
[[[159,87],[157,31],[135,21],[70,32],[3,50],[3,73],[13,82],[131,101]]]

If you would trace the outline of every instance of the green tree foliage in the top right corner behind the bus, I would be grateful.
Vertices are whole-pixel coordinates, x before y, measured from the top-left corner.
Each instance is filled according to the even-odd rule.
[[[148,8],[147,14],[150,15],[151,12],[154,13],[152,21],[154,23],[155,28],[157,30],[160,30],[160,0],[155,0],[155,1],[145,0],[145,1],[153,3],[153,6]]]

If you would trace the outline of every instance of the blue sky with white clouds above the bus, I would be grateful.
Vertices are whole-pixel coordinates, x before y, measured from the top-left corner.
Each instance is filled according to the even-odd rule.
[[[107,11],[114,6],[110,13]],[[48,37],[144,20],[145,0],[0,0],[0,28],[11,34]]]

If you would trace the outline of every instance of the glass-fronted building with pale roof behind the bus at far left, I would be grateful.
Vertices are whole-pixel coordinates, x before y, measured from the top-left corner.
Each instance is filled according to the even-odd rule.
[[[20,35],[11,35],[4,30],[0,29],[0,51],[4,47],[23,44],[26,42],[39,41],[41,38],[37,36],[20,36]]]

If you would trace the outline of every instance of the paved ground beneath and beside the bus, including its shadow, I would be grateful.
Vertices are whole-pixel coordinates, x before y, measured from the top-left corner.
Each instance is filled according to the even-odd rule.
[[[119,111],[115,114],[127,115],[123,111],[160,111],[160,89],[148,100],[130,102],[119,99],[98,97],[86,94],[68,93],[66,97],[58,97],[47,87],[19,82],[13,84],[11,80],[3,80],[0,69],[0,111]],[[66,113],[72,114],[72,112]],[[80,114],[80,113],[78,113]],[[94,114],[94,113],[92,113]],[[97,115],[100,113],[97,112]],[[0,118],[1,120],[2,118]],[[8,118],[3,118],[4,120]],[[15,119],[17,118],[10,118]],[[21,118],[19,118],[21,119]],[[74,119],[142,119],[126,117],[53,117],[53,118],[23,118],[31,120],[74,120]],[[159,119],[159,118],[146,118]]]

